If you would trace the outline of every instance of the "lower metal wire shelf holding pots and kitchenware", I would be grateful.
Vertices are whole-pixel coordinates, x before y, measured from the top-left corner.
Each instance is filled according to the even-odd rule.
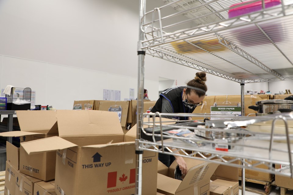
[[[175,126],[174,124],[167,124],[170,121],[162,121],[162,117],[166,116],[190,116],[190,117],[203,117],[210,118],[215,115],[220,115],[221,118],[226,118],[227,128],[210,128],[205,129],[190,126]],[[293,143],[293,134],[289,134],[288,131],[288,121],[293,122],[293,115],[282,114],[282,115],[268,115],[268,116],[258,116],[258,117],[239,117],[236,115],[222,115],[222,114],[167,114],[167,113],[144,113],[144,117],[154,117],[151,121],[142,121],[142,131],[150,137],[158,137],[159,141],[148,141],[139,140],[139,148],[146,151],[155,151],[158,153],[165,153],[171,155],[179,155],[187,158],[195,158],[199,160],[212,161],[214,158],[219,158],[222,161],[218,161],[219,164],[229,165],[239,168],[248,168],[255,171],[267,172],[283,176],[293,176],[293,164],[292,164],[292,154],[291,150]],[[155,117],[157,116],[157,117]],[[232,119],[229,121],[228,119]],[[275,122],[281,120],[284,122],[285,133],[277,134],[274,133]],[[235,126],[241,124],[254,124],[255,122],[273,121],[272,131],[270,132],[258,132],[258,131],[244,131],[243,129],[231,129],[229,126]],[[292,124],[292,123],[290,123]],[[147,133],[144,127],[160,127],[160,132],[158,134]],[[163,133],[163,127],[171,127],[174,129],[186,128],[190,130],[201,130],[205,133],[218,132],[218,133],[241,133],[243,134],[243,142],[239,143],[229,143],[230,146],[243,148],[240,150],[229,150],[229,151],[218,151],[212,147],[212,144],[222,144],[222,141],[218,140],[203,140],[200,137],[178,137],[175,135],[168,135]],[[247,137],[249,135],[249,137]],[[274,142],[278,138],[283,139],[285,143]],[[173,139],[173,140],[172,140]],[[206,145],[196,146],[195,144],[190,144],[184,140],[192,140],[194,142],[203,142]],[[255,141],[257,140],[257,142]],[[290,142],[291,141],[291,142]],[[176,151],[172,151],[172,148],[176,148]],[[164,151],[164,149],[168,151]],[[187,153],[187,151],[192,151]],[[183,154],[177,154],[181,151]],[[209,154],[206,156],[204,154]],[[230,158],[230,160],[225,160]],[[238,161],[237,164],[235,162]],[[252,163],[254,162],[254,163]],[[290,172],[284,172],[284,168],[276,169],[274,164],[282,164],[288,166],[287,169]],[[264,168],[259,168],[258,165],[265,165]]]

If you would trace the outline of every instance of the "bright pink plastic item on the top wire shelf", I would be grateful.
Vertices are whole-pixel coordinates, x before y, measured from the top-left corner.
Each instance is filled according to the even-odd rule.
[[[234,5],[231,5],[230,8],[233,8],[237,5],[239,6],[241,4],[248,3],[248,2],[251,2],[251,1],[236,3]],[[280,4],[281,4],[281,0],[265,0],[265,8],[273,7]],[[239,6],[237,8],[230,9],[228,11],[228,15],[229,15],[229,18],[233,18],[236,16],[241,16],[243,14],[259,11],[261,9],[262,9],[262,1],[257,1],[257,2],[249,3],[243,6]]]

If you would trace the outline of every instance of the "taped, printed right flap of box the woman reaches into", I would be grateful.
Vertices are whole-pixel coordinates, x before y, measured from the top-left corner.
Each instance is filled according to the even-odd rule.
[[[221,160],[219,159],[215,161]],[[176,193],[185,190],[191,186],[195,186],[197,185],[197,183],[204,180],[210,180],[211,176],[218,166],[219,164],[203,161],[201,164],[195,165],[194,167],[190,168],[186,176],[182,180],[180,186],[176,190]]]

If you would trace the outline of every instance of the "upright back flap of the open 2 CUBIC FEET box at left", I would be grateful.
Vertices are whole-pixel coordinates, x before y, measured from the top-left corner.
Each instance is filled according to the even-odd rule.
[[[57,121],[56,112],[43,110],[17,110],[21,131],[47,133]]]

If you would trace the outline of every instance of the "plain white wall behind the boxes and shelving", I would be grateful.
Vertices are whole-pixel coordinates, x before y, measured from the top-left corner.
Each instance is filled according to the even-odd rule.
[[[72,109],[73,100],[102,99],[103,89],[129,98],[129,88],[137,93],[138,13],[137,0],[0,1],[1,87],[31,87],[38,104],[58,109]],[[145,88],[156,100],[159,77],[180,86],[196,72],[146,55]],[[240,94],[239,83],[207,77],[208,95]],[[245,89],[267,90],[267,83]]]

